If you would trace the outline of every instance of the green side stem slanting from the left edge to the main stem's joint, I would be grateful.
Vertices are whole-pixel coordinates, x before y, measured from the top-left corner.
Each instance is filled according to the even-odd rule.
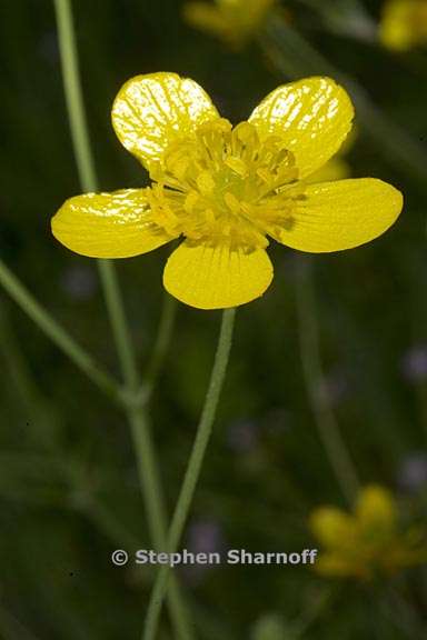
[[[58,324],[2,260],[0,260],[0,284],[39,329],[41,329],[95,384],[116,401],[120,400],[120,387],[113,378],[100,369],[93,358]]]

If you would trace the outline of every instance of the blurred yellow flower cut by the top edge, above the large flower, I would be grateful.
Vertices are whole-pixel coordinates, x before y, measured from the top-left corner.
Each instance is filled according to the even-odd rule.
[[[188,2],[183,17],[193,27],[242,47],[260,29],[276,0],[214,0]]]

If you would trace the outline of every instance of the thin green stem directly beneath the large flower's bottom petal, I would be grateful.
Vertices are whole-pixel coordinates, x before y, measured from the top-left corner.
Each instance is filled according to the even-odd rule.
[[[179,492],[177,506],[175,508],[172,522],[168,533],[167,551],[173,553],[180,543],[191,501],[196,491],[205,459],[206,449],[212,432],[212,426],[217,412],[219,397],[224,386],[228,360],[230,356],[232,330],[235,324],[236,309],[227,309],[222,313],[221,330],[218,339],[217,352],[210,377],[205,404],[197,429],[196,439],[192,446],[190,459],[183,477],[181,490]],[[142,640],[155,640],[161,606],[170,578],[170,568],[163,564],[158,571],[156,582],[151,592],[150,602],[147,610],[147,618],[143,628]]]

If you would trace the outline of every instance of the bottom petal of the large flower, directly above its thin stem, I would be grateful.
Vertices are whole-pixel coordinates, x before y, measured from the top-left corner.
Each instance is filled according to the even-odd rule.
[[[163,273],[167,291],[197,309],[226,309],[262,296],[272,280],[264,249],[246,253],[229,246],[183,242],[170,256]]]

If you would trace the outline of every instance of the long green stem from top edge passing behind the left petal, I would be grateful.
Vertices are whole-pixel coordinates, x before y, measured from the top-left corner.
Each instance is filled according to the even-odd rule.
[[[70,0],[54,0],[61,53],[62,77],[70,121],[75,156],[85,191],[97,191],[98,180],[89,142],[81,82],[78,66],[76,38]],[[120,288],[112,262],[98,261],[106,303],[110,317],[122,376],[127,388],[127,418],[131,429],[138,459],[141,491],[146,503],[147,518],[153,546],[161,550],[166,543],[167,518],[165,501],[158,473],[158,463],[151,440],[150,426],[143,408],[136,402],[140,380],[136,358],[125,316]],[[171,583],[169,606],[177,638],[192,637],[183,602],[177,583]]]

